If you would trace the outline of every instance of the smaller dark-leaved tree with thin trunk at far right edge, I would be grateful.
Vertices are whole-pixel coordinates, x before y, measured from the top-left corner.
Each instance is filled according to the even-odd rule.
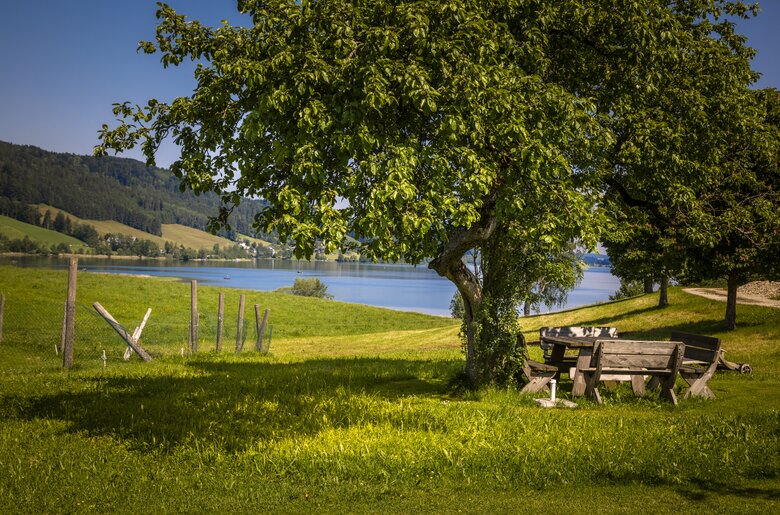
[[[752,117],[697,197],[700,217],[690,224],[706,230],[686,234],[687,279],[727,279],[727,329],[736,328],[738,286],[780,277],[780,93],[750,91],[745,103]]]

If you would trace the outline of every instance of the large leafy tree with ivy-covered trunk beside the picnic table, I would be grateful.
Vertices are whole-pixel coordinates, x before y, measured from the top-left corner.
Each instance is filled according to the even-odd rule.
[[[640,152],[657,161],[646,133],[688,122],[659,107],[661,89],[679,90],[693,112],[714,70],[725,83],[749,80],[722,19],[744,14],[741,2],[244,0],[238,9],[248,27],[209,28],[160,4],[157,39],[141,48],[164,66],[198,63],[197,87],[170,103],[116,105],[119,125],[104,126],[96,152],[140,142],[151,164],[172,137],[182,184],[223,196],[215,224],[257,196],[269,202],[257,226],[292,240],[298,256],[354,233],[368,256],[430,259],[463,296],[472,381],[508,378],[516,366],[509,344],[494,345],[496,335],[512,341],[512,285],[525,273],[507,268],[512,252],[536,241],[592,246],[605,184],[637,201],[634,188],[686,178],[619,166]],[[481,278],[463,262],[472,249]]]

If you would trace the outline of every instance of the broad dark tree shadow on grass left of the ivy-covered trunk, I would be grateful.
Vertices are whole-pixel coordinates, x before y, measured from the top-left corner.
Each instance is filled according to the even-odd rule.
[[[69,432],[120,438],[139,450],[170,452],[197,442],[240,452],[367,424],[445,430],[445,420],[404,410],[398,401],[444,398],[458,366],[378,358],[191,361],[176,376],[92,377],[74,388],[80,391],[5,397],[3,411],[7,418],[63,420]]]

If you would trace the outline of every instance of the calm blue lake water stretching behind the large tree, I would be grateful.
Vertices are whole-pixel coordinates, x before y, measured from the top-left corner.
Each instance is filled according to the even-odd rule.
[[[0,264],[23,267],[66,268],[64,258],[0,257]],[[200,284],[248,290],[276,290],[292,286],[298,277],[318,277],[336,300],[401,311],[449,316],[455,286],[425,265],[281,261],[265,259],[239,262],[187,263],[137,259],[79,259],[86,272],[179,277]],[[591,268],[565,307],[573,308],[609,300],[620,281],[608,268]],[[547,311],[543,307],[542,311]]]

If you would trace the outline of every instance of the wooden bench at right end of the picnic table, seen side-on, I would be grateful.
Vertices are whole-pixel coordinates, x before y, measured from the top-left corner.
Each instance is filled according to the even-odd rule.
[[[707,382],[715,375],[715,370],[718,368],[718,361],[722,354],[720,338],[674,331],[672,340],[685,344],[680,376],[688,383],[688,389],[683,393],[683,399],[689,397],[714,399],[715,394],[707,386]]]

